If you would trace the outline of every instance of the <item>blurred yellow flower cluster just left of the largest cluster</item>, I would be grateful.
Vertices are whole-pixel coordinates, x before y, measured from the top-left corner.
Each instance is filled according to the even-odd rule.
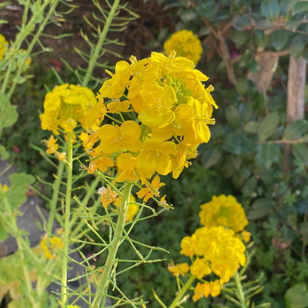
[[[45,95],[44,112],[39,116],[41,127],[55,135],[59,135],[59,128],[64,133],[72,132],[78,122],[87,129],[85,121],[89,114],[88,106],[96,104],[93,91],[87,87],[68,83],[56,86]]]

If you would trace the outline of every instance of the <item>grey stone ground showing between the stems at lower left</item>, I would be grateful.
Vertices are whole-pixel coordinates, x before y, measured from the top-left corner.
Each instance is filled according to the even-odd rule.
[[[4,170],[8,166],[7,161],[0,161],[0,172]],[[9,176],[14,173],[18,172],[14,166],[12,166],[5,174],[3,174],[0,177],[0,183],[1,184],[7,184],[10,185]],[[20,229],[23,229],[30,233],[29,239],[31,243],[31,247],[36,246],[39,244],[39,241],[41,240],[41,237],[44,235],[43,230],[39,230],[36,222],[39,221],[40,224],[42,224],[42,217],[39,215],[39,212],[37,208],[40,209],[40,211],[43,213],[46,220],[48,220],[48,211],[44,208],[44,202],[42,199],[40,199],[37,195],[30,196],[27,199],[27,202],[24,203],[20,207],[20,211],[22,212],[22,216],[18,217],[18,227]],[[54,230],[59,228],[59,225],[55,223]],[[0,241],[0,257],[5,257],[11,253],[14,253],[17,250],[16,241],[13,237],[9,237],[6,241]],[[75,260],[81,261],[81,257],[79,254],[71,255]],[[78,276],[79,274],[83,273],[83,268],[79,266],[76,263],[69,263],[70,270],[68,271],[68,279]],[[70,282],[69,286],[73,289],[78,287],[79,282]],[[51,284],[48,287],[49,292],[51,290],[54,290],[56,292],[60,292],[59,286],[56,284]],[[94,290],[93,290],[94,291]],[[78,301],[76,304],[78,304],[82,308],[88,308],[87,303],[83,301]],[[107,298],[106,306],[112,305],[112,302],[109,298]]]

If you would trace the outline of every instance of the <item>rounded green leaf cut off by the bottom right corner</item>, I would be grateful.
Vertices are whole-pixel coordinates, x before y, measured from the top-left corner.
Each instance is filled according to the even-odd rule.
[[[286,308],[305,308],[308,303],[308,288],[305,282],[298,282],[285,293]]]

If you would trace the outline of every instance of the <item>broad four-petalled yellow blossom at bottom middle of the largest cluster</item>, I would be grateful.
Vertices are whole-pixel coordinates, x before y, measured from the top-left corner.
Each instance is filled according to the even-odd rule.
[[[162,141],[151,138],[142,144],[143,151],[137,155],[137,169],[151,177],[155,171],[161,175],[171,172],[170,155],[176,154],[176,144],[173,141]]]

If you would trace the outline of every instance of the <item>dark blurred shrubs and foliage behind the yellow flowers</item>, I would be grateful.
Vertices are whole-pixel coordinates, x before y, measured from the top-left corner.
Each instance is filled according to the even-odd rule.
[[[33,78],[12,97],[19,119],[2,136],[11,153],[10,162],[19,171],[43,180],[52,179],[54,170],[30,145],[42,146],[40,140],[50,135],[40,129],[39,113],[45,87],[58,84],[51,69],[66,82],[77,83],[63,59],[74,68],[86,65],[75,51],[87,52],[80,29],[91,35],[83,16],[91,19],[95,6],[90,0],[74,4],[79,9],[66,15],[61,28],[54,24],[47,28],[51,35],[72,35],[42,38],[53,51],[32,59],[28,73]],[[271,302],[274,308],[308,307],[308,2],[131,0],[128,7],[141,17],[127,29],[111,33],[111,39],[114,35],[125,44],[111,46],[104,61],[112,67],[119,57],[126,61],[131,55],[146,58],[151,51],[163,52],[164,42],[174,32],[192,30],[203,47],[197,68],[209,76],[206,87],[213,85],[211,94],[219,109],[213,112],[216,124],[210,126],[211,139],[198,148],[192,166],[178,180],[165,177],[161,194],[167,195],[175,209],[138,223],[132,231],[136,240],[142,238],[147,245],[168,249],[168,256],[152,254],[167,261],[136,267],[117,283],[127,294],[143,294],[149,307],[159,307],[153,301],[152,288],[164,302],[171,302],[176,283],[167,265],[171,259],[182,261],[180,241],[200,227],[200,205],[213,195],[232,194],[245,208],[246,229],[255,242],[256,253],[246,274],[253,279],[264,273],[260,281],[264,289],[254,302]],[[14,39],[22,19],[19,1],[6,6],[1,14],[9,20],[1,26],[1,34],[8,41]],[[95,74],[102,80],[107,77],[103,69],[96,69]],[[34,187],[48,194],[49,188],[43,184]],[[131,249],[120,250],[126,259],[134,258]],[[96,264],[103,262],[98,259]],[[195,307],[224,304],[219,297],[203,298]]]

